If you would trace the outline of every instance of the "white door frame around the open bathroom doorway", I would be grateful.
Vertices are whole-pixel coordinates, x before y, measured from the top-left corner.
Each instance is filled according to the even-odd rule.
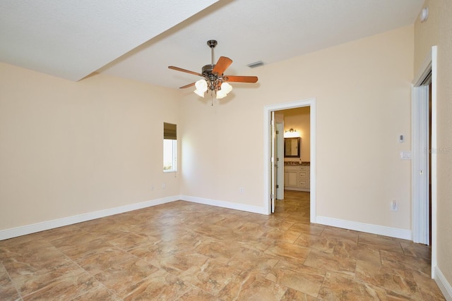
[[[285,102],[280,104],[270,104],[263,107],[263,208],[265,214],[270,214],[270,148],[271,148],[271,112],[286,109],[295,109],[302,106],[310,106],[310,180],[311,180],[311,196],[310,196],[310,221],[316,223],[316,99],[309,98],[298,100],[295,102]]]

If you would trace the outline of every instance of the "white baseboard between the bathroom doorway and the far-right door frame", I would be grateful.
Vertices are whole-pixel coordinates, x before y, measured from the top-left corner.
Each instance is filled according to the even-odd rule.
[[[360,232],[379,234],[389,236],[391,238],[402,238],[404,240],[412,240],[410,230],[391,228],[386,226],[372,225],[370,223],[359,223],[357,221],[345,221],[343,219],[333,219],[326,216],[316,216],[316,223],[321,225],[344,228]]]

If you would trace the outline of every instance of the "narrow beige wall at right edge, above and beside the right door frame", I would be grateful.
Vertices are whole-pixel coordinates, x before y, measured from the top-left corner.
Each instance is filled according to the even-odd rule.
[[[415,23],[415,70],[432,46],[438,46],[437,147],[437,265],[452,283],[452,1],[428,0],[429,18]]]

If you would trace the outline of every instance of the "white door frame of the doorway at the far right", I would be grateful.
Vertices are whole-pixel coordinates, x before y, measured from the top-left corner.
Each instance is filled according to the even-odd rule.
[[[432,176],[432,278],[435,276],[435,268],[437,264],[436,259],[436,204],[437,204],[437,191],[436,191],[436,154],[437,149],[436,135],[436,64],[437,64],[437,47],[432,47],[432,51],[428,54],[427,58],[422,63],[420,70],[417,72],[414,80],[412,81],[412,240],[414,242],[424,243],[423,233],[428,231],[429,219],[428,219],[428,203],[429,199],[425,199],[423,190],[419,190],[420,184],[420,166],[422,166],[424,156],[420,152],[431,152],[431,176]],[[425,106],[422,108],[422,102],[429,101],[428,88],[423,83],[424,80],[432,73],[432,145],[429,149],[422,149],[422,135],[417,130],[418,125],[422,121],[422,116],[426,113]],[[428,106],[427,106],[428,109]],[[428,177],[428,173],[424,173],[424,177]],[[422,179],[425,180],[425,179]],[[428,178],[427,178],[428,181]],[[428,183],[428,182],[427,182]],[[426,218],[427,216],[427,218]]]

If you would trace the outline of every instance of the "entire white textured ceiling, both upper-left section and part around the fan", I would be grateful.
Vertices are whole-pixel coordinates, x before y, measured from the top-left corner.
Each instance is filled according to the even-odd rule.
[[[1,0],[0,61],[80,80],[97,70],[166,87],[228,75],[414,23],[423,0]]]

